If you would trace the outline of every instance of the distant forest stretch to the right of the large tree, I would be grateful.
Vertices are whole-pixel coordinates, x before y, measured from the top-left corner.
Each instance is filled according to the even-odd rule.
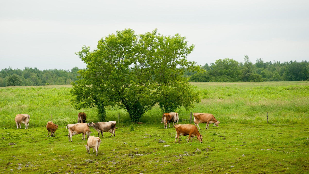
[[[219,59],[206,63],[200,71],[186,72],[192,82],[262,82],[309,80],[309,62],[264,62],[256,59],[252,64],[245,55],[244,63],[233,59]]]

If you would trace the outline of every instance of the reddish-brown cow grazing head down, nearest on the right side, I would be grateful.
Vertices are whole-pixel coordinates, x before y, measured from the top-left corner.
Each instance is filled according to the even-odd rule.
[[[187,143],[189,142],[190,138],[192,142],[192,138],[194,136],[196,136],[197,139],[201,143],[203,142],[203,136],[198,132],[197,127],[194,126],[193,124],[176,124],[173,128],[176,129],[176,133],[177,133],[175,143],[176,143],[177,138],[178,138],[178,142],[180,143],[179,141],[180,135],[184,135],[184,136],[189,135]]]

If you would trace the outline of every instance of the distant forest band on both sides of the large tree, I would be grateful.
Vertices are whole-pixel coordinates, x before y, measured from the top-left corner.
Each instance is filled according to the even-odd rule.
[[[253,64],[245,55],[244,62],[233,59],[218,59],[214,63],[200,66],[199,71],[186,71],[184,76],[192,82],[262,82],[262,81],[302,81],[309,80],[309,62],[290,61],[281,63],[264,62],[256,59]],[[39,70],[25,67],[0,71],[0,86],[38,86],[38,85],[66,85],[77,80],[78,67],[71,70]]]

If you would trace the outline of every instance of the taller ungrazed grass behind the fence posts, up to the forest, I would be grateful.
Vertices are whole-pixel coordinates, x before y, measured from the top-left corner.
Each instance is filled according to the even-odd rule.
[[[189,111],[177,110],[181,124],[189,123],[190,112],[212,113],[221,124],[266,123],[266,113],[271,124],[309,123],[309,82],[262,83],[192,83],[200,93],[201,102]],[[44,127],[53,115],[59,125],[77,123],[78,112],[87,114],[87,122],[97,122],[95,108],[75,110],[70,103],[71,85],[26,86],[0,88],[0,116],[2,124],[14,127],[17,114],[30,115],[30,127]],[[154,106],[141,122],[158,124],[162,111]],[[118,115],[120,116],[118,121]],[[124,110],[108,109],[107,121],[130,125]]]

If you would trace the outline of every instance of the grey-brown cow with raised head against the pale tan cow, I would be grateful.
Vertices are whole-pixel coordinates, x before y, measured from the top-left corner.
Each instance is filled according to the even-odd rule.
[[[115,137],[116,121],[98,122],[98,123],[91,122],[91,123],[88,123],[87,125],[89,127],[95,128],[95,130],[98,132],[99,137],[100,137],[100,133],[103,137],[103,132],[110,132],[112,133],[112,136],[114,133],[114,137]]]

